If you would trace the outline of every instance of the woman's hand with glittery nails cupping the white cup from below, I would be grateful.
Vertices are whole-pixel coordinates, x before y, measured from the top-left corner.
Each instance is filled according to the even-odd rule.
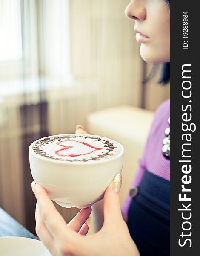
[[[67,225],[45,189],[33,182],[32,190],[37,198],[36,233],[50,253],[53,256],[139,256],[122,218],[120,186],[121,175],[118,174],[104,195],[103,227],[94,235],[83,236],[88,230],[83,223],[91,208],[81,210]]]

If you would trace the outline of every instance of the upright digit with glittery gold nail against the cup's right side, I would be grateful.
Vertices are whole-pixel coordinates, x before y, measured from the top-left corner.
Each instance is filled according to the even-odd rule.
[[[103,203],[104,225],[119,221],[122,218],[119,195],[121,184],[122,175],[117,173],[105,191]]]

